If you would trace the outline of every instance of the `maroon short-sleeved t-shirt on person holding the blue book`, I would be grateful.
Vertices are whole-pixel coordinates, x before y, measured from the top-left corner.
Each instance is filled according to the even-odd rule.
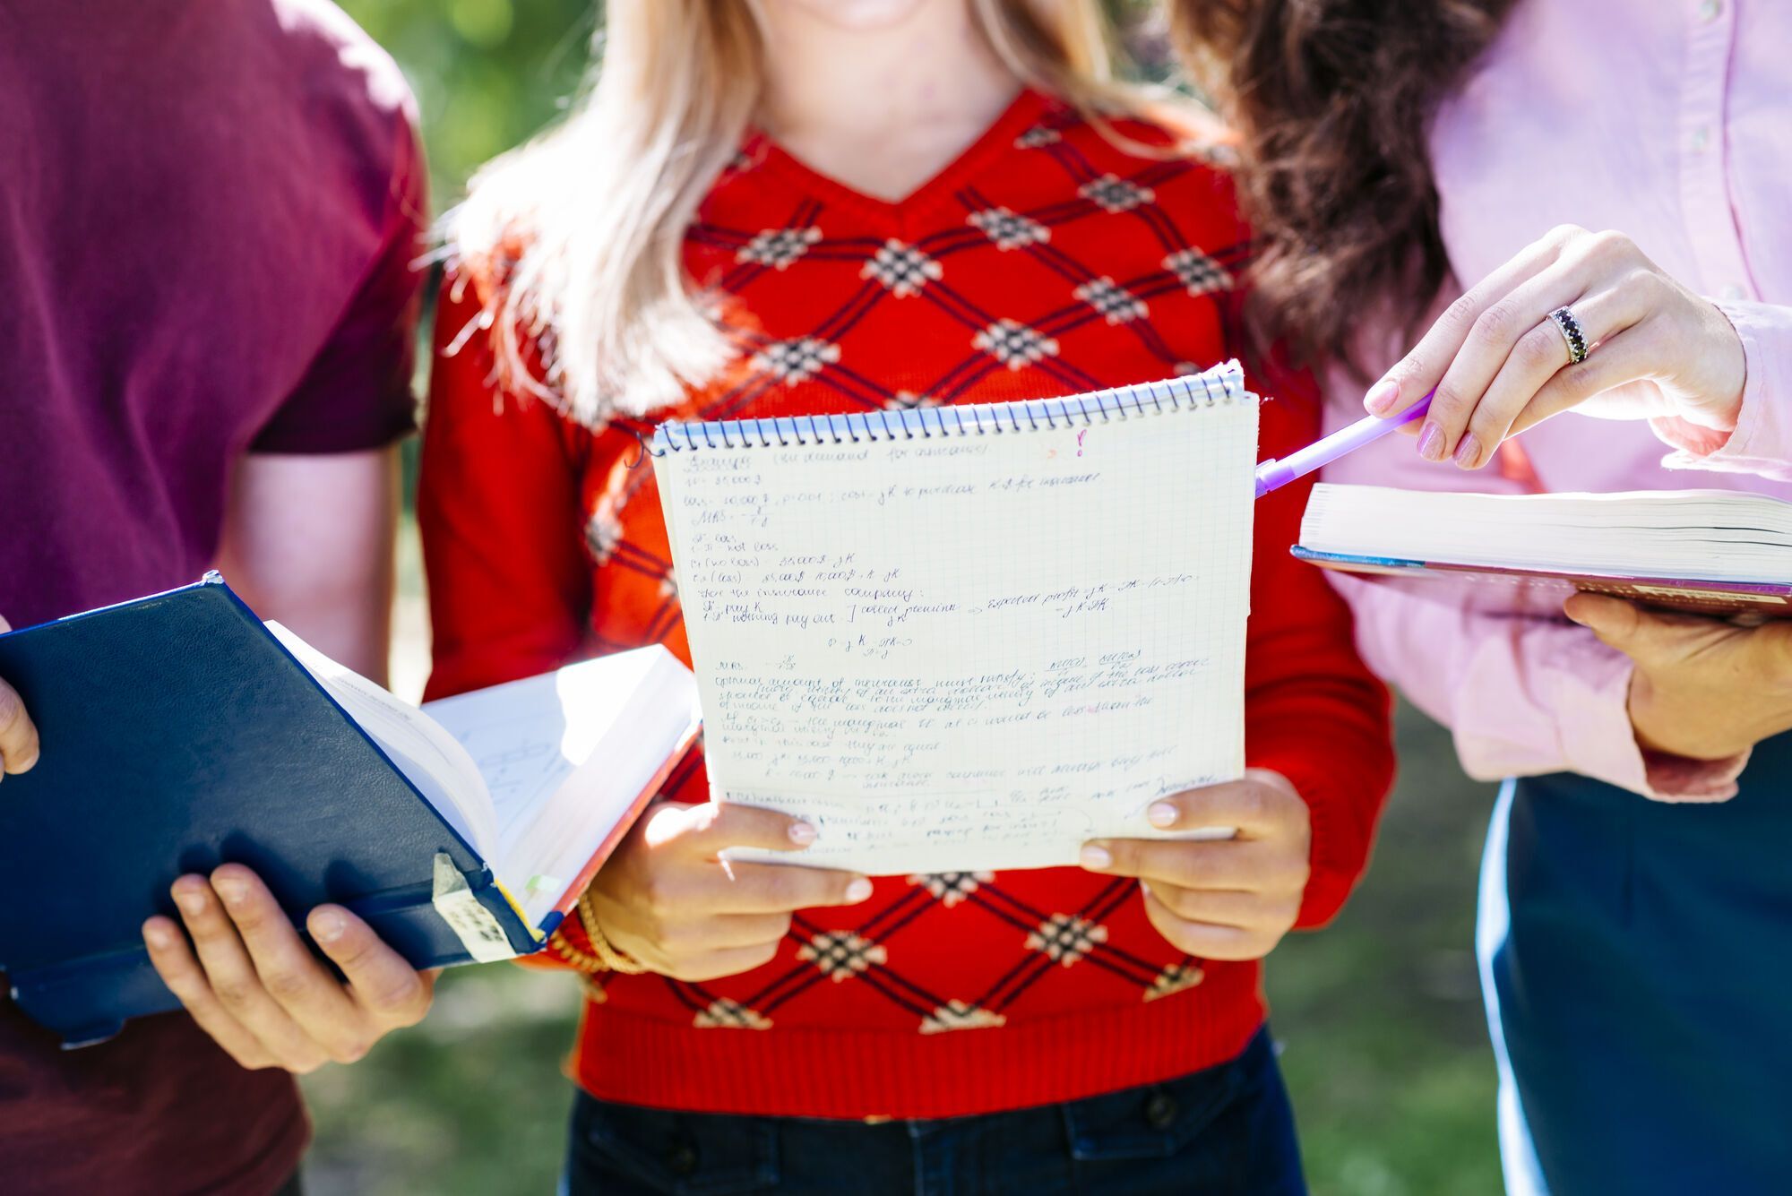
[[[197,580],[244,453],[410,428],[410,118],[324,0],[0,4],[14,627]],[[61,1051],[0,997],[0,1191],[267,1192],[306,1133],[290,1076],[237,1067],[185,1013]]]

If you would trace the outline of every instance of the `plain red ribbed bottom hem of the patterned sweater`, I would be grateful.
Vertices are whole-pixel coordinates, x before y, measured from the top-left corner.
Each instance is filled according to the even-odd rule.
[[[695,1029],[586,1004],[573,1080],[624,1105],[772,1117],[964,1117],[1075,1101],[1236,1058],[1263,1024],[1260,967],[1210,963],[1190,990],[923,1035]]]

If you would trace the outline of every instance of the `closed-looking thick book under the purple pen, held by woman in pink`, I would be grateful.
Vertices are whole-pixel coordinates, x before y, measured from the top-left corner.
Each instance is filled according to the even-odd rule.
[[[1792,618],[1792,503],[1762,494],[1321,483],[1294,555],[1346,573],[1425,578],[1412,593],[1471,607],[1559,614],[1563,598],[1591,591],[1699,614]]]

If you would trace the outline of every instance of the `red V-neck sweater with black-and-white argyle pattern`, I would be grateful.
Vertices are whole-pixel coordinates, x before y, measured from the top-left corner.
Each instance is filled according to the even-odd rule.
[[[1249,236],[1226,175],[1174,145],[1152,124],[1100,129],[1023,93],[937,177],[883,202],[749,136],[685,247],[738,358],[659,417],[1064,396],[1238,355]],[[419,500],[432,696],[652,643],[688,661],[640,442],[652,421],[590,428],[507,390],[478,324],[495,276],[462,263],[439,310]],[[1256,389],[1274,396],[1262,455],[1315,435],[1303,380]],[[1317,926],[1366,865],[1392,756],[1387,695],[1344,605],[1288,557],[1305,500],[1290,485],[1258,503],[1245,756],[1312,809],[1299,922]],[[661,799],[708,799],[699,754]],[[1258,963],[1183,954],[1131,879],[885,877],[864,904],[799,911],[753,972],[597,978],[572,1072],[634,1105],[948,1117],[1222,1064],[1263,1013]]]

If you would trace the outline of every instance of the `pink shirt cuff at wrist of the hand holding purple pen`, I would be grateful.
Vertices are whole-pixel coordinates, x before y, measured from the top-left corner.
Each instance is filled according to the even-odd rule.
[[[1668,469],[1756,473],[1792,478],[1792,308],[1770,303],[1720,301],[1719,312],[1742,338],[1747,376],[1742,410],[1731,433],[1692,428],[1681,421],[1650,419],[1656,437],[1674,448],[1661,464]]]

